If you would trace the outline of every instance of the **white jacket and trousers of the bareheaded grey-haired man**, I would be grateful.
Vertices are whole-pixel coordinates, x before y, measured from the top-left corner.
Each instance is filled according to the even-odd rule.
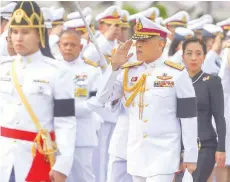
[[[65,64],[73,73],[75,85],[75,116],[77,120],[76,144],[74,163],[68,182],[95,182],[92,168],[92,156],[98,145],[98,121],[96,113],[88,107],[88,100],[96,92],[95,83],[100,70],[78,59]],[[95,95],[95,93],[94,93]]]

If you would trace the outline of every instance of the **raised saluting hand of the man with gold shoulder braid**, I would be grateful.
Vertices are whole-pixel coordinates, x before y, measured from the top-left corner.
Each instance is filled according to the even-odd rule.
[[[120,43],[115,53],[112,55],[112,68],[116,71],[121,65],[128,62],[128,60],[133,56],[133,53],[128,55],[129,49],[132,46],[133,41],[127,40],[125,43]]]

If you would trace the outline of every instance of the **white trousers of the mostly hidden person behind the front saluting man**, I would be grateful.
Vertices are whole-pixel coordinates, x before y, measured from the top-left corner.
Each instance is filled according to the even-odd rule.
[[[107,182],[133,182],[132,176],[127,173],[126,160],[110,155]]]

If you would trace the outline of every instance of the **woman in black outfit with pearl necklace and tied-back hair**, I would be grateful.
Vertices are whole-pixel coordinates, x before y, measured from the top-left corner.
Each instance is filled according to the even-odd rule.
[[[206,45],[198,39],[186,40],[183,45],[183,60],[193,81],[197,97],[198,137],[201,142],[194,182],[206,182],[217,164],[225,165],[226,123],[224,96],[221,79],[202,71],[207,53]],[[212,125],[212,116],[216,130]],[[217,141],[218,137],[218,141]]]

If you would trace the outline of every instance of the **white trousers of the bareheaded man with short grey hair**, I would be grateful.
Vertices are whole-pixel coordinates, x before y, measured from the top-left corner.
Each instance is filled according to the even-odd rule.
[[[94,147],[76,147],[73,166],[67,182],[95,182],[92,167]]]

